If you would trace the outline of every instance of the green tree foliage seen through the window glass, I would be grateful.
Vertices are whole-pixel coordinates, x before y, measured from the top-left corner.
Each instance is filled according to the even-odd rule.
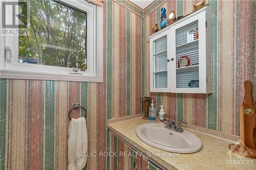
[[[19,36],[19,61],[87,68],[87,14],[59,2],[30,1],[28,34]]]

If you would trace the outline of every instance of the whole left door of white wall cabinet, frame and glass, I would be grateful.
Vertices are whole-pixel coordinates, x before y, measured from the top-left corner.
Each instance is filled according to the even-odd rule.
[[[166,30],[150,39],[150,89],[151,92],[169,91],[170,33]]]

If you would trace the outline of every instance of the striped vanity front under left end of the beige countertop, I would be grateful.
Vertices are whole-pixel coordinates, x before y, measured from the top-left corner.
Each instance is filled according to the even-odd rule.
[[[114,134],[111,133],[110,138],[110,169],[141,170],[141,155]]]

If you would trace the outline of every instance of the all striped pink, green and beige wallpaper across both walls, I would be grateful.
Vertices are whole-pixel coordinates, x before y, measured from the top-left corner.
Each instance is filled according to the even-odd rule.
[[[191,12],[194,3],[168,1],[163,7],[182,15]],[[0,169],[67,169],[68,110],[74,103],[88,109],[89,152],[109,150],[106,120],[141,113],[144,95],[151,95],[157,106],[163,104],[170,117],[239,134],[238,106],[243,101],[244,80],[253,82],[256,96],[256,2],[209,4],[217,16],[212,45],[214,93],[150,93],[145,37],[160,22],[160,8],[142,18],[105,1],[103,83],[1,79]],[[109,162],[105,157],[89,157],[85,169],[109,169]]]

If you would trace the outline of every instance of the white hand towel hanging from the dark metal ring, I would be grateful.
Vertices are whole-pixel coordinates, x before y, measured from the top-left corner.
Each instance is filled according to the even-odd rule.
[[[69,123],[68,170],[80,170],[87,162],[86,118],[72,118]]]

